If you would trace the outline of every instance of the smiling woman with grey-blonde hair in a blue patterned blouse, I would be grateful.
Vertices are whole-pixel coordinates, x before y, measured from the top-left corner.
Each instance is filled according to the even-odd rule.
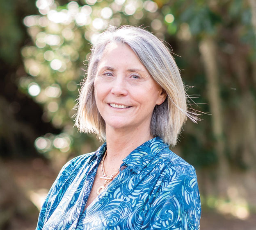
[[[169,150],[187,117],[167,47],[144,29],[109,27],[91,50],[75,120],[106,142],[62,168],[37,229],[199,229],[194,168]]]

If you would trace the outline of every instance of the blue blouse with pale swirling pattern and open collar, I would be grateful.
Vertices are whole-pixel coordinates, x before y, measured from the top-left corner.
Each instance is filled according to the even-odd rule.
[[[106,143],[64,165],[37,230],[199,230],[195,170],[159,137],[133,150],[117,177],[84,210],[105,150]]]

